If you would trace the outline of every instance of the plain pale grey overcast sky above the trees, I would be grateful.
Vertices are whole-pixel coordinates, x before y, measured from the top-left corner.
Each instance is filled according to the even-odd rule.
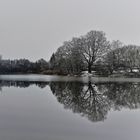
[[[48,60],[64,41],[90,30],[140,45],[139,6],[139,0],[0,0],[0,54]]]

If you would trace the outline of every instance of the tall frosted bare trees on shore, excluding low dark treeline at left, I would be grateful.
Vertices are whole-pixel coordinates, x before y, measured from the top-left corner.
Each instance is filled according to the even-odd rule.
[[[140,72],[140,47],[124,45],[119,40],[108,41],[102,31],[90,31],[84,36],[63,43],[50,59],[50,69],[63,74],[88,71],[98,75]]]

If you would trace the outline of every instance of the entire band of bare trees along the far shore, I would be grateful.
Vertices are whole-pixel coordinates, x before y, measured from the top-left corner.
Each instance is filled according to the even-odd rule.
[[[90,31],[65,41],[49,61],[0,59],[0,74],[81,75],[83,71],[101,76],[139,76],[140,46],[124,45],[119,40],[110,42],[103,31]]]

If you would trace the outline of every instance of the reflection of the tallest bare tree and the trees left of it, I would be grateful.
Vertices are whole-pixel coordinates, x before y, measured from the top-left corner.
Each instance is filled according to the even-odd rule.
[[[108,110],[111,109],[111,102],[95,84],[83,83],[51,83],[51,90],[58,101],[64,104],[65,108],[87,117],[91,121],[106,119]]]

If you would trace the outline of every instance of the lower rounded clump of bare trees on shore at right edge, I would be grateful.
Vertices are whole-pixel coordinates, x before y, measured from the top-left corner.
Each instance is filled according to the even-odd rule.
[[[109,74],[115,72],[140,73],[140,47],[124,45],[110,50],[99,65],[104,65]]]

